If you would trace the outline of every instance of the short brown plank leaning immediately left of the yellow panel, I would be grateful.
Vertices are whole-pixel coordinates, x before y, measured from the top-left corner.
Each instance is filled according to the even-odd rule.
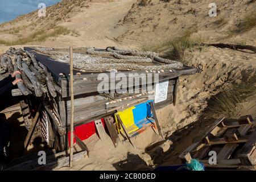
[[[117,147],[118,143],[121,142],[120,138],[118,137],[117,130],[114,126],[114,118],[109,116],[104,118],[106,126],[109,130],[110,138],[112,139],[114,146]]]

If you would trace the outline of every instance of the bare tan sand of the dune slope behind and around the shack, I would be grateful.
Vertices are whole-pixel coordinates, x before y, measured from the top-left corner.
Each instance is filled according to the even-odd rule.
[[[93,1],[88,3],[88,6],[81,7],[79,11],[69,14],[65,21],[57,22],[58,25],[74,28],[81,36],[61,35],[55,39],[48,39],[47,42],[34,44],[141,48],[145,44],[154,45],[179,36],[186,28],[196,24],[198,31],[192,36],[201,36],[206,42],[246,42],[256,45],[255,27],[236,36],[226,35],[247,11],[253,10],[254,1],[228,0],[224,3],[216,0],[220,6],[220,15],[227,16],[228,19],[221,27],[214,24],[220,16],[215,19],[208,16],[209,2],[198,0],[167,3],[152,0],[147,6],[138,6],[135,0]],[[16,24],[27,22],[30,16],[18,20]],[[13,25],[7,24],[5,28],[8,26]],[[0,38],[14,39],[14,36],[18,35],[0,32]],[[9,47],[0,46],[0,53],[7,48]],[[208,99],[221,90],[246,82],[255,75],[255,53],[209,47],[203,51],[195,49],[188,52],[187,60],[189,65],[202,68],[202,72],[181,77],[177,105],[166,106],[158,111],[166,140],[160,142],[158,135],[147,130],[135,138],[138,147],[138,150],[135,150],[127,141],[114,148],[110,140],[104,143],[94,135],[90,138],[94,142],[89,144],[89,159],[76,162],[73,169],[148,169],[161,164],[179,163],[177,156],[180,152],[191,144],[193,137],[208,129],[213,122],[212,119],[201,117],[204,109],[208,107]],[[252,114],[255,118],[255,101],[254,96],[245,101],[240,115]],[[149,147],[153,143],[158,144]],[[145,150],[147,147],[148,150]]]

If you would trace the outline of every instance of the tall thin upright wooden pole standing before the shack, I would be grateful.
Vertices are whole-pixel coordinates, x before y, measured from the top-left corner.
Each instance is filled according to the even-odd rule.
[[[73,90],[73,48],[69,47],[70,57],[70,90],[71,90],[71,122],[70,122],[70,163],[69,167],[73,167],[73,145],[74,145],[74,90]]]

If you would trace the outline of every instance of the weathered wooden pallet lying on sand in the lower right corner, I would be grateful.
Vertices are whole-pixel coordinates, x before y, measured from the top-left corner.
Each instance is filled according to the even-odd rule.
[[[210,151],[216,151],[217,164],[209,164]],[[199,159],[207,168],[256,169],[256,121],[251,115],[217,119],[200,141],[189,146],[179,158],[183,163]]]

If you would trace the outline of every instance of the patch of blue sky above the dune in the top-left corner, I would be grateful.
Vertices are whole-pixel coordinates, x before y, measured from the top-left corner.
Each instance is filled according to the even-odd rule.
[[[0,0],[0,23],[38,9],[39,3],[54,5],[61,0]]]

